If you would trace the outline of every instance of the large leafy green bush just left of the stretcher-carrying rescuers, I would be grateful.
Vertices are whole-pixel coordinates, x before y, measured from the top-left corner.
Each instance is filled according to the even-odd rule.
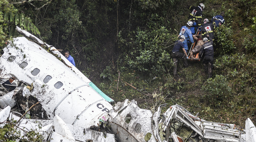
[[[152,14],[147,23],[148,28],[142,30],[142,27],[138,27],[134,36],[129,35],[130,40],[123,39],[119,33],[119,46],[126,47],[123,48],[125,66],[158,76],[172,66],[169,53],[174,35],[166,27],[154,22],[155,19],[163,20],[157,14]]]

